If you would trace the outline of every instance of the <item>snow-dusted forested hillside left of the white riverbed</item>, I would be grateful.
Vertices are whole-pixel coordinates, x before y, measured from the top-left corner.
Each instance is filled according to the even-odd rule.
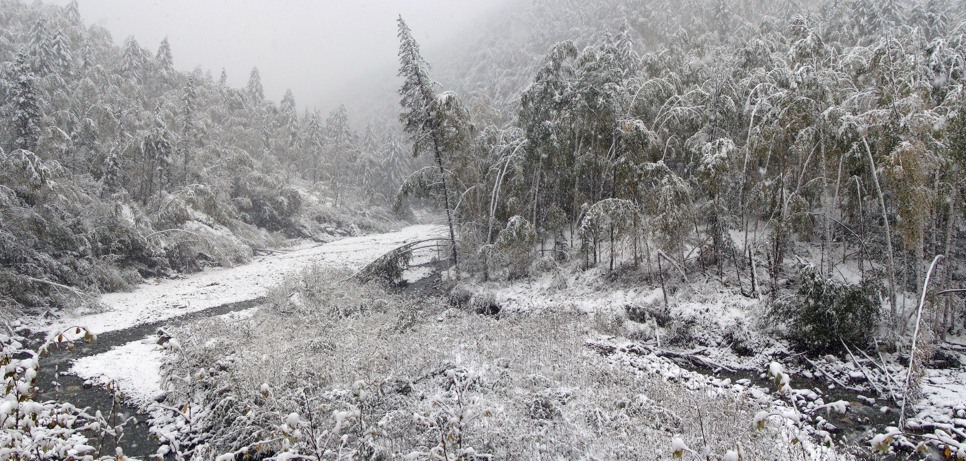
[[[0,309],[365,225],[337,209],[386,202],[411,168],[386,127],[268,101],[257,69],[226,80],[175,70],[167,39],[114,45],[76,2],[0,4]]]

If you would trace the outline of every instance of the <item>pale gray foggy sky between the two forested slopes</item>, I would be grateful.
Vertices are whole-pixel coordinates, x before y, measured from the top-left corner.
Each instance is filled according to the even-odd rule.
[[[53,0],[66,4],[69,0]],[[433,49],[457,40],[474,18],[501,0],[79,0],[87,24],[111,32],[115,43],[134,36],[152,53],[167,36],[175,67],[197,66],[229,84],[247,83],[257,66],[265,96],[291,88],[299,110],[323,112],[354,82],[394,78],[396,17],[402,14],[432,62]]]

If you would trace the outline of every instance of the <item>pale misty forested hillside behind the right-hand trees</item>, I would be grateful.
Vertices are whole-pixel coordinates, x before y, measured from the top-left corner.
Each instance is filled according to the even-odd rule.
[[[741,41],[754,34],[763,21],[779,24],[795,15],[809,14],[816,19],[877,14],[872,3],[869,8],[860,2],[833,5],[836,4],[815,1],[717,0],[513,2],[481,18],[475,28],[466,31],[468,40],[443,50],[434,49],[442,59],[432,64],[438,80],[463,94],[467,101],[480,99],[480,104],[491,103],[512,111],[543,57],[562,41],[573,41],[578,48],[584,48],[627,34],[636,52],[658,52],[682,34],[710,33],[716,34],[719,41]],[[957,14],[949,8],[951,5],[932,5],[932,9]],[[856,21],[862,22],[872,21]],[[840,38],[848,45],[857,40],[855,36]]]

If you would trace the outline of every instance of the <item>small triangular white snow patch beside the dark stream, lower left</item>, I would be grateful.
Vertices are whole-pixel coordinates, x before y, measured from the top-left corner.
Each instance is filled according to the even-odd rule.
[[[164,393],[161,390],[162,351],[153,339],[156,338],[149,336],[77,359],[70,372],[100,385],[113,383],[125,400],[147,408]]]

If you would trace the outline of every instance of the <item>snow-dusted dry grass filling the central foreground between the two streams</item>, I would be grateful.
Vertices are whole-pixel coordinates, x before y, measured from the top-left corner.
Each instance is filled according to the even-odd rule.
[[[706,446],[711,459],[738,445],[744,459],[802,459],[784,431],[753,428],[760,407],[743,395],[599,355],[585,345],[597,335],[585,315],[497,320],[440,299],[333,284],[342,278],[311,271],[250,319],[209,319],[177,333],[184,353],[169,375],[207,370],[212,383],[230,385],[205,398],[197,391],[204,378],[193,394],[173,380],[170,398],[181,401],[169,403],[204,407],[230,396],[244,415],[232,423],[219,420],[232,412],[197,417],[195,429],[213,433],[196,454],[270,440],[271,428],[256,426],[297,412],[299,437],[260,448],[428,456],[449,442],[453,456],[472,447],[496,459],[669,459],[671,438],[680,436],[696,450]],[[339,425],[342,439],[332,431],[340,410],[359,412]],[[325,444],[334,451],[317,450]]]

